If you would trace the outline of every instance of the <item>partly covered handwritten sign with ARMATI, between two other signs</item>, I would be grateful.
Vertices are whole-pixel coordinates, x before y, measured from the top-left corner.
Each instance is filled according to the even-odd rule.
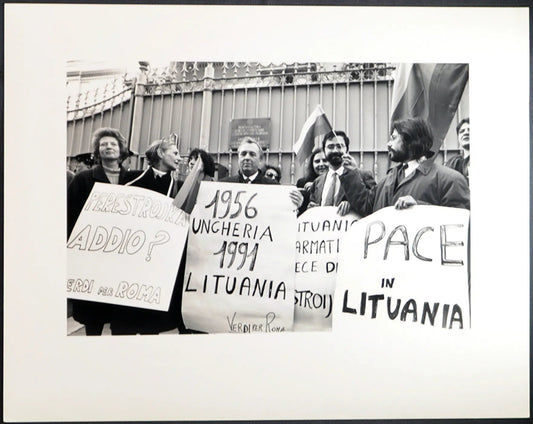
[[[340,237],[358,219],[352,213],[338,215],[334,206],[311,208],[298,217],[294,331],[331,330]]]

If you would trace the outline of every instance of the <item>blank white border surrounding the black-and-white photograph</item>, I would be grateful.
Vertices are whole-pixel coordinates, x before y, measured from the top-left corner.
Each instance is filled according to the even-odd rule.
[[[4,420],[527,416],[526,8],[7,4],[5,18]],[[65,61],[117,58],[469,62],[475,328],[67,338]]]

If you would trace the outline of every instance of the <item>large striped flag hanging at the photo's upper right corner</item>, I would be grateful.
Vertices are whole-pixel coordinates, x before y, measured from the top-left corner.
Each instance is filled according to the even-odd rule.
[[[468,81],[468,64],[402,63],[392,90],[391,123],[423,118],[433,131],[438,152],[457,111]]]

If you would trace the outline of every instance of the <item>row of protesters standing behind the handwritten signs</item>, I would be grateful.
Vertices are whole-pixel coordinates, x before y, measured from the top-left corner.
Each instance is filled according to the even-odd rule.
[[[461,153],[445,165],[435,163],[433,136],[423,119],[409,118],[391,125],[388,154],[395,165],[376,183],[371,172],[361,169],[349,154],[350,140],[340,130],[332,130],[307,159],[305,175],[289,193],[295,213],[318,206],[335,206],[340,215],[354,212],[360,217],[387,207],[405,209],[414,205],[437,205],[470,208],[468,186],[470,165],[470,122],[463,119],[457,127]],[[145,170],[128,170],[123,162],[129,157],[124,136],[113,128],[100,128],[93,134],[94,165],[75,174],[67,172],[67,237],[94,184],[121,184],[153,190],[175,197],[182,182],[174,178],[180,154],[177,146],[167,140],[152,143],[145,156]],[[280,184],[280,168],[264,163],[261,146],[252,137],[244,137],[237,150],[238,172],[220,182],[243,184]],[[189,169],[198,158],[202,160],[202,179],[215,179],[215,162],[201,149],[188,156]],[[185,256],[184,250],[184,256]],[[181,319],[181,291],[184,257],[176,277],[170,308],[166,312],[118,306],[86,300],[69,299],[73,318],[84,324],[86,335],[100,335],[106,323],[113,335],[158,334],[185,328]]]

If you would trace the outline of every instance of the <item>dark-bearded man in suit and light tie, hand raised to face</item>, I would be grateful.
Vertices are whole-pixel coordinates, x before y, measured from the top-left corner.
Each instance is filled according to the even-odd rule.
[[[350,140],[343,131],[332,130],[322,140],[328,172],[311,186],[309,207],[337,206],[339,215],[352,211],[364,217],[372,211],[376,182],[370,173],[363,174],[349,155]]]

